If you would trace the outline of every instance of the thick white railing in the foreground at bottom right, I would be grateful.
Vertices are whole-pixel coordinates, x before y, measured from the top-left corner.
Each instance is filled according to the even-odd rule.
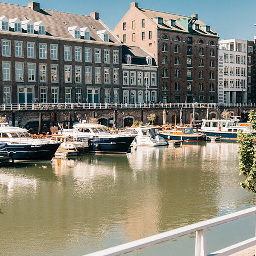
[[[95,253],[87,254],[86,256],[116,256],[134,250],[142,249],[154,244],[175,239],[180,236],[185,236],[191,233],[196,233],[195,238],[195,256],[207,256],[207,229],[230,221],[235,221],[250,215],[256,214],[256,207],[241,210],[239,212],[230,213],[221,217],[213,218],[207,221],[201,221],[186,227],[180,227],[175,230],[163,232],[154,236],[128,242],[126,244],[117,245],[105,250],[100,250]],[[256,236],[251,239],[244,240],[232,246],[210,253],[208,256],[228,256],[233,253],[240,252],[249,247],[256,245]]]

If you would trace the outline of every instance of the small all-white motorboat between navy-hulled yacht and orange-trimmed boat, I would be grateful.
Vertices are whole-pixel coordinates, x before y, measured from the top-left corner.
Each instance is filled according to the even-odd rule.
[[[152,126],[140,126],[128,128],[125,134],[135,134],[132,145],[164,146],[167,142],[161,137],[159,129]]]

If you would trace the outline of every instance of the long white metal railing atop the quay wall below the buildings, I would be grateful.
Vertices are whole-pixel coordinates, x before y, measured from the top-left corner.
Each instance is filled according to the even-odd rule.
[[[25,103],[0,104],[0,111],[111,108],[256,108],[256,103]]]

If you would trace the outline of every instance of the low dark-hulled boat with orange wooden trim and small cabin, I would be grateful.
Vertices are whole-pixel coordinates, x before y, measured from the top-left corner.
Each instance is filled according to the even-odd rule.
[[[206,141],[207,136],[194,127],[180,127],[179,129],[160,131],[165,140]]]

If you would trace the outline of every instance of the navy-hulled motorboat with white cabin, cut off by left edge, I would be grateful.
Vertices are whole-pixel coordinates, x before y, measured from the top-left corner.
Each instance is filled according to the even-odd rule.
[[[14,161],[50,161],[60,143],[50,143],[49,139],[34,139],[28,130],[0,124],[0,142],[6,143],[6,151],[0,156]]]

